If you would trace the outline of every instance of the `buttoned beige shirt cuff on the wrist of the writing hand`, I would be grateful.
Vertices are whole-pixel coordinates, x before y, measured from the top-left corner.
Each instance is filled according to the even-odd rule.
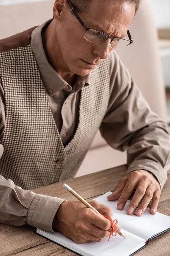
[[[53,219],[63,201],[65,200],[48,195],[35,195],[28,209],[28,225],[54,232],[52,229]]]

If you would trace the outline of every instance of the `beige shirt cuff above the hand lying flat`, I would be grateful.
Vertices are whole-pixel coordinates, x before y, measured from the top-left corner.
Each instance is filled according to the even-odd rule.
[[[152,160],[136,160],[128,167],[127,174],[135,170],[146,170],[151,172],[159,181],[161,190],[163,189],[164,184],[167,181],[167,171],[163,169],[159,163]]]

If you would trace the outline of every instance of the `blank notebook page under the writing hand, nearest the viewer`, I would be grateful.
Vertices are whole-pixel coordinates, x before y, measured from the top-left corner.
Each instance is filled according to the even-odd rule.
[[[122,230],[122,233],[126,236],[126,239],[117,234],[115,237],[111,236],[109,241],[108,237],[106,237],[99,243],[77,244],[60,232],[52,233],[43,230],[43,235],[48,239],[56,241],[70,250],[85,256],[129,256],[145,245],[144,239],[134,236],[125,230]]]

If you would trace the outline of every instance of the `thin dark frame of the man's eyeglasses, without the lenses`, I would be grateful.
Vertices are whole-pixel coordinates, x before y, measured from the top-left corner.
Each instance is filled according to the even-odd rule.
[[[78,13],[76,12],[76,10],[74,9],[74,7],[72,6],[72,3],[70,2],[70,0],[68,0],[68,3],[69,3],[69,6],[70,6],[70,8],[71,8],[71,11],[74,13],[75,17],[77,18],[77,20],[79,21],[79,23],[82,25],[82,27],[85,29],[85,31],[86,31],[86,33],[87,33],[88,30],[90,30],[91,28],[89,28],[88,26],[85,25],[84,21],[82,21],[82,19],[79,17]],[[129,40],[128,40],[128,39],[125,39],[125,38],[111,37],[110,35],[107,35],[107,34],[105,34],[104,32],[101,32],[101,31],[99,31],[99,30],[97,30],[97,29],[93,29],[93,30],[96,30],[96,31],[100,32],[101,34],[107,36],[107,38],[106,38],[104,41],[102,41],[101,43],[105,42],[108,38],[111,38],[111,43],[112,43],[112,41],[113,41],[114,39],[120,39],[120,40],[125,40],[125,41],[130,42],[127,46],[129,46],[130,44],[133,43],[133,39],[132,39],[132,37],[131,37],[131,35],[130,35],[129,29],[127,30],[127,35],[128,35]],[[86,33],[85,33],[85,34],[86,34]],[[86,39],[86,38],[85,38],[85,39]],[[87,40],[87,39],[86,39],[86,40]],[[88,41],[88,40],[87,40],[87,41]],[[91,43],[93,43],[93,42],[91,42]],[[101,44],[101,43],[99,43],[99,44]],[[95,44],[95,43],[93,43],[93,44]],[[110,45],[111,45],[111,44],[110,44]],[[112,48],[112,47],[111,47],[111,48]],[[112,48],[112,49],[113,49],[113,48]]]

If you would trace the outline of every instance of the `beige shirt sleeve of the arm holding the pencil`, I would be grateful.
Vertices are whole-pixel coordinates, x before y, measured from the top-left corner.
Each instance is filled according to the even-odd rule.
[[[0,138],[5,130],[5,121],[5,97],[0,81]],[[0,158],[2,154],[3,145],[0,144]],[[63,201],[61,198],[24,190],[0,175],[0,223],[13,226],[28,224],[53,232],[53,219]]]

